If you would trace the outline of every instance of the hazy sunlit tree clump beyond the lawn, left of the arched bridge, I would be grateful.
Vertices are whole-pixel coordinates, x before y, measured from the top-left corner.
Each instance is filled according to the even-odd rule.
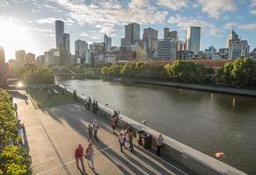
[[[52,84],[55,82],[53,73],[50,73],[47,68],[26,64],[18,71],[19,78],[27,85],[36,84]]]

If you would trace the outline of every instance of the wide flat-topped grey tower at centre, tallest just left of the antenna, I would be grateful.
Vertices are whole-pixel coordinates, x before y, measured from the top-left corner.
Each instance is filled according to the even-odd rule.
[[[136,23],[125,25],[126,45],[134,45],[139,40],[140,40],[140,25]]]

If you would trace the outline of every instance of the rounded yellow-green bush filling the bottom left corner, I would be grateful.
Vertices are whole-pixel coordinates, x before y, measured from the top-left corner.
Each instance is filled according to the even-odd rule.
[[[31,174],[31,159],[23,147],[6,146],[0,153],[0,169],[5,175]]]

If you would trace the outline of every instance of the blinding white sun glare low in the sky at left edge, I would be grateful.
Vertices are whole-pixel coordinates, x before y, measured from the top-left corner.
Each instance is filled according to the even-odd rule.
[[[5,52],[11,52],[13,56],[16,50],[31,47],[32,37],[29,29],[16,21],[0,18],[0,45],[4,46]]]

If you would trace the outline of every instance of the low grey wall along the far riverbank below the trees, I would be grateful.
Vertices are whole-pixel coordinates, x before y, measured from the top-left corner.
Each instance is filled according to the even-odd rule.
[[[256,98],[256,88],[255,89],[246,89],[246,88],[230,88],[217,85],[200,85],[200,84],[188,84],[181,82],[172,82],[172,81],[153,81],[145,79],[130,79],[130,78],[102,78],[104,81],[119,81],[119,82],[130,82],[130,83],[143,83],[164,87],[172,88],[187,88],[193,90],[207,91],[220,94],[229,94],[229,95],[243,95],[248,97]]]

